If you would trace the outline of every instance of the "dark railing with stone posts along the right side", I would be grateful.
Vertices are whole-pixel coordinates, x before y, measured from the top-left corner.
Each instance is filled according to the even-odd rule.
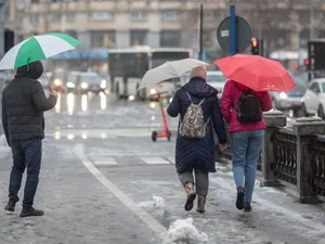
[[[263,187],[287,187],[298,193],[300,203],[325,200],[325,121],[318,117],[299,118],[291,127],[278,111],[264,114],[268,128],[258,170]],[[218,152],[231,160],[231,147]]]

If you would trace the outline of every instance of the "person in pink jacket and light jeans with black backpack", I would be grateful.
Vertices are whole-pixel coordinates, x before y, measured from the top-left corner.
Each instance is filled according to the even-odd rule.
[[[233,80],[227,80],[221,112],[230,124],[230,141],[234,180],[237,188],[236,207],[249,213],[256,180],[256,169],[266,128],[263,113],[272,110],[269,92],[250,90]]]

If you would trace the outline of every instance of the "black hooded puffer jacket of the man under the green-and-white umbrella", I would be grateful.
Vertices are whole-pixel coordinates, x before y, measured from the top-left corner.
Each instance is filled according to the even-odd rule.
[[[2,126],[10,144],[34,138],[44,138],[43,111],[52,110],[56,97],[46,97],[37,79],[43,66],[37,61],[17,69],[15,78],[2,92]]]

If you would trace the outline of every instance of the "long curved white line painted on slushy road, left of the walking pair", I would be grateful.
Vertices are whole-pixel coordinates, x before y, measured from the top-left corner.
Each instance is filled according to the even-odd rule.
[[[87,157],[82,150],[82,145],[78,144],[74,149],[75,154],[83,163],[84,167],[122,204],[125,204],[131,211],[134,213],[150,229],[152,229],[158,236],[166,234],[167,229],[159,223],[153,216],[143,210],[136,203],[134,203],[127,194],[119,190],[113,182],[110,182]]]

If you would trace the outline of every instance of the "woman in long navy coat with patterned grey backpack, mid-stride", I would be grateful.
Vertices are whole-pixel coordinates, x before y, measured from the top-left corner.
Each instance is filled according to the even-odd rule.
[[[197,196],[196,210],[205,213],[208,174],[216,172],[213,129],[221,143],[220,149],[227,140],[218,92],[206,82],[207,69],[196,67],[192,69],[191,77],[190,82],[177,91],[167,113],[171,117],[180,115],[176,167],[187,195],[184,208],[190,211]]]

